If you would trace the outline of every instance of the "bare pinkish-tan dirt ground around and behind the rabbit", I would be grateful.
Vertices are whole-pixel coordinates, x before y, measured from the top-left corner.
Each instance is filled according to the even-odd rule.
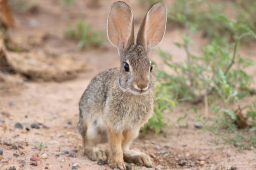
[[[119,66],[117,49],[108,41],[98,49],[88,51],[78,51],[76,42],[65,39],[64,29],[70,23],[82,18],[88,21],[93,28],[106,31],[107,16],[109,8],[114,1],[97,1],[98,6],[94,7],[93,1],[75,1],[75,3],[66,7],[53,0],[34,1],[38,5],[36,13],[20,14],[13,11],[15,21],[19,25],[18,31],[23,34],[33,33],[35,31],[45,31],[48,38],[40,44],[43,50],[54,52],[56,55],[72,54],[81,62],[87,62],[89,69],[80,73],[72,80],[63,82],[41,82],[26,81],[21,86],[10,84],[8,90],[0,91],[0,118],[5,123],[0,123],[1,144],[0,150],[3,150],[5,158],[11,157],[9,164],[4,165],[2,169],[9,169],[15,166],[17,169],[21,166],[19,161],[24,159],[26,165],[20,169],[71,169],[71,166],[78,162],[81,167],[78,169],[111,169],[107,165],[97,165],[97,162],[91,161],[83,155],[82,139],[76,131],[76,125],[79,120],[78,103],[81,95],[88,86],[91,78],[100,71]],[[135,34],[138,31],[148,7],[138,5],[135,1],[125,1],[133,10],[135,21]],[[168,1],[171,5],[172,1]],[[200,45],[206,42],[200,35],[195,37],[195,45],[191,47],[192,52],[196,52]],[[185,59],[185,52],[177,48],[173,42],[181,42],[182,38],[177,29],[167,28],[164,40],[159,45],[163,50],[173,54],[174,61]],[[255,43],[243,46],[241,54],[256,60]],[[162,60],[156,55],[156,49],[150,52],[159,67],[164,67]],[[256,80],[256,69],[251,68],[250,75]],[[249,103],[253,97],[242,101],[241,105]],[[203,105],[199,105],[199,111],[203,112]],[[188,112],[185,121],[175,124],[177,118],[184,116]],[[165,112],[170,119],[170,126],[162,133],[156,135],[153,131],[141,133],[131,148],[137,148],[148,155],[155,155],[151,158],[152,168],[141,166],[133,169],[256,169],[255,154],[252,150],[237,150],[235,146],[220,146],[211,143],[215,136],[201,129],[194,127],[196,116],[191,110],[191,105],[181,104],[174,108],[173,112]],[[15,123],[28,123],[23,129],[15,128]],[[40,125],[39,129],[31,128],[33,122],[44,123],[48,128]],[[188,128],[185,127],[188,123]],[[4,133],[4,124],[8,127]],[[29,131],[25,128],[29,128]],[[23,148],[10,149],[3,145],[3,141],[9,139],[12,143],[18,145],[23,143]],[[48,158],[42,159],[38,166],[29,165],[30,157],[36,155],[39,150],[36,149],[37,143],[43,142],[44,149],[41,153],[48,154]],[[108,145],[100,145],[108,147]],[[78,150],[70,151],[71,148]],[[63,150],[68,150],[69,154],[60,155]],[[13,154],[18,153],[16,157]],[[179,162],[186,161],[184,166]],[[200,160],[202,160],[200,162]],[[203,162],[205,161],[205,162]],[[194,166],[190,166],[193,163]],[[3,163],[0,163],[2,166]],[[157,168],[156,168],[157,169]]]

